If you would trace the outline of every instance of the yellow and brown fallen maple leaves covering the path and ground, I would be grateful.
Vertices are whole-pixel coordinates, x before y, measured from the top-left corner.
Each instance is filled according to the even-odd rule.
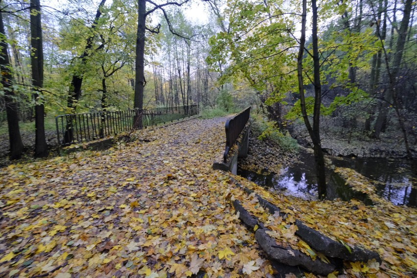
[[[226,119],[148,128],[137,133],[143,140],[106,151],[0,169],[0,276],[273,275],[231,196],[272,223],[278,241],[306,254],[308,246],[294,236],[296,218],[383,257],[381,265],[347,263],[341,275],[412,277],[417,271],[416,209],[387,202],[373,207],[355,200],[308,202],[237,178],[290,217],[283,225],[268,215],[254,195],[232,185],[230,173],[211,168],[222,156]]]

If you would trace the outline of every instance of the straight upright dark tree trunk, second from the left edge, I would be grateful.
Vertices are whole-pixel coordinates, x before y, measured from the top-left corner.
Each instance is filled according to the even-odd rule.
[[[30,0],[30,64],[32,86],[35,96],[35,157],[47,157],[48,146],[45,138],[45,107],[42,103],[41,88],[44,86],[44,51],[42,46],[42,24],[40,0]]]

